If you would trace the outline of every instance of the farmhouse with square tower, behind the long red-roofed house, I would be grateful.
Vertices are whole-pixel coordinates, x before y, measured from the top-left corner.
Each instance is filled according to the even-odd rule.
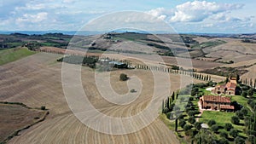
[[[214,94],[236,95],[236,78],[230,78],[227,84],[219,84],[212,89]]]

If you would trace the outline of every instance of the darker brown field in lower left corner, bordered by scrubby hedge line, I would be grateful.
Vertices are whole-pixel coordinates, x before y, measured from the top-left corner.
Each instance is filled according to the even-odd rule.
[[[0,143],[13,135],[15,130],[34,124],[39,118],[44,117],[44,112],[28,109],[15,104],[0,104]]]

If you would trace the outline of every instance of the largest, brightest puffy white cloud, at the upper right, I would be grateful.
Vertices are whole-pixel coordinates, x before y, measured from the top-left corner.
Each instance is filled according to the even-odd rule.
[[[243,4],[215,3],[206,1],[187,2],[176,6],[171,22],[199,22],[217,14],[224,19],[224,12],[241,9]],[[218,15],[219,14],[219,15]]]

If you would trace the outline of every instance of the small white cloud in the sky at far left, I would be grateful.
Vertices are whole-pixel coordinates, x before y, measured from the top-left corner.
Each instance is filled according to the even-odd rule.
[[[38,14],[23,14],[22,17],[16,19],[16,22],[32,22],[37,23],[41,22],[43,20],[47,20],[48,13],[42,12]]]

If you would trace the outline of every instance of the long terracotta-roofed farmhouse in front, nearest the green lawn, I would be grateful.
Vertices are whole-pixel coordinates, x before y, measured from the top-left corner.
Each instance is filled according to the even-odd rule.
[[[203,95],[200,98],[201,108],[220,110],[220,111],[234,111],[234,106],[231,106],[229,97]]]

